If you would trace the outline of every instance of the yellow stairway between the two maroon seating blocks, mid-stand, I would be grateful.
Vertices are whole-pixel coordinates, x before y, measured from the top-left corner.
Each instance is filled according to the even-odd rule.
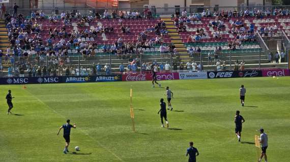
[[[171,43],[175,45],[177,51],[179,52],[180,61],[181,62],[191,61],[190,56],[186,50],[186,47],[182,42],[182,38],[177,32],[177,28],[175,27],[173,20],[170,17],[161,17],[161,20],[165,21],[168,35],[171,38]]]

